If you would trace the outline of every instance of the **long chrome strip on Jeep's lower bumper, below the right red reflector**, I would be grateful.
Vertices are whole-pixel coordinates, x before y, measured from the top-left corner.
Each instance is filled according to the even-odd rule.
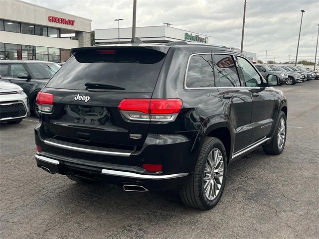
[[[116,171],[116,170],[110,170],[110,169],[102,169],[102,174],[126,177],[126,178],[153,179],[153,180],[179,178],[179,177],[185,177],[188,175],[188,173],[176,173],[176,174],[168,174],[168,175],[146,175],[146,174]]]

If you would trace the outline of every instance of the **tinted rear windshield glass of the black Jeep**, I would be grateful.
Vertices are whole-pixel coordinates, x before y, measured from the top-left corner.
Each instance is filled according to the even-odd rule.
[[[46,87],[87,90],[86,83],[110,91],[153,92],[165,54],[148,49],[88,50],[75,53]]]

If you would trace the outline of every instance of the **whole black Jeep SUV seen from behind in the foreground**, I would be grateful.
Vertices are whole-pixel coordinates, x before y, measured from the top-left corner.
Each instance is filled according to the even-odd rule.
[[[37,95],[36,163],[80,183],[179,190],[214,207],[227,167],[263,146],[280,154],[287,100],[238,52],[199,44],[72,49]]]

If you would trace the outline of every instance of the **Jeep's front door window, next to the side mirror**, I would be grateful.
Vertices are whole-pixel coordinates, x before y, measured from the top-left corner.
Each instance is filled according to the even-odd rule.
[[[237,57],[237,61],[244,76],[245,86],[262,86],[262,80],[254,67],[244,58]]]

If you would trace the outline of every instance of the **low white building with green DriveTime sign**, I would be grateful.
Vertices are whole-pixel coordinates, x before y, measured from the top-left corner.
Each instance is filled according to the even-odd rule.
[[[120,38],[119,38],[120,33]],[[167,43],[171,41],[187,41],[202,44],[213,44],[213,37],[171,26],[136,27],[136,36],[143,42]],[[95,42],[105,44],[129,43],[132,38],[132,27],[96,29]]]

